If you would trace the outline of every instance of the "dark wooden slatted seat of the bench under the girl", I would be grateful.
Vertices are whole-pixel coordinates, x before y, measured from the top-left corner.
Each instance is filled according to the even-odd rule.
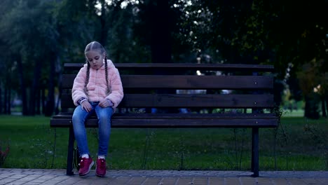
[[[161,117],[156,114],[147,114],[138,118],[137,116],[113,116],[111,126],[113,128],[208,128],[208,127],[276,127],[278,120],[275,116],[224,116],[211,114],[207,116],[185,115],[170,118]],[[97,127],[97,118],[89,118],[86,127]],[[67,128],[71,126],[71,116],[54,116],[50,120],[53,128]]]

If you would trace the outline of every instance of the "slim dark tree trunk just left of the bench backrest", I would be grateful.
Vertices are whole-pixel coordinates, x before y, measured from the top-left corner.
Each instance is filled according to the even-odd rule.
[[[52,53],[55,60],[57,60],[56,53]],[[50,60],[50,73],[48,81],[48,97],[46,101],[45,116],[52,116],[55,109],[55,60]]]

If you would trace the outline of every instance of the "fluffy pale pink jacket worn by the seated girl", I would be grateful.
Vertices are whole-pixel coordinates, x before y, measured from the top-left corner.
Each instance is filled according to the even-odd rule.
[[[81,97],[86,98],[89,102],[100,102],[106,98],[113,102],[113,108],[115,109],[123,99],[123,87],[118,69],[111,60],[107,60],[109,83],[107,88],[105,65],[100,69],[90,68],[89,82],[85,89],[87,66],[87,64],[84,64],[74,79],[73,88],[71,89],[74,104],[78,106],[78,100]]]

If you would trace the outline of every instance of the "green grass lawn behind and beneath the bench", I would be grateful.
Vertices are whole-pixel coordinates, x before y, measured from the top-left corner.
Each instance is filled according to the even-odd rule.
[[[66,168],[68,129],[50,128],[49,120],[0,116],[0,147],[10,145],[0,167]],[[278,130],[261,128],[260,169],[327,170],[327,123],[283,116]],[[107,161],[111,169],[250,170],[250,140],[242,128],[113,128]],[[97,129],[88,129],[88,142],[95,157]]]

